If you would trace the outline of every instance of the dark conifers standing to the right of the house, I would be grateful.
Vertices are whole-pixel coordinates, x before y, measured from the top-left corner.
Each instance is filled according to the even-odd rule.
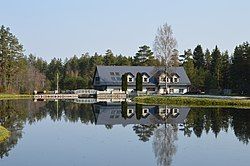
[[[192,83],[194,91],[207,93],[226,93],[232,89],[234,93],[250,94],[250,45],[248,42],[236,46],[230,56],[228,51],[221,52],[218,46],[210,51],[203,51],[201,45],[184,51],[180,56],[182,66]]]

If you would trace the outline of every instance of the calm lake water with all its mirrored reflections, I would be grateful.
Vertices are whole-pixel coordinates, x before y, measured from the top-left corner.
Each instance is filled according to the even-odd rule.
[[[250,110],[0,101],[1,166],[249,165]]]

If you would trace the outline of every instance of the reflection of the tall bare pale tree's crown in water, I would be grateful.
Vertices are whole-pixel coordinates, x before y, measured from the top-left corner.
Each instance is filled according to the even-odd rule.
[[[157,165],[169,166],[172,163],[172,157],[176,153],[177,126],[165,125],[155,130],[153,149]]]

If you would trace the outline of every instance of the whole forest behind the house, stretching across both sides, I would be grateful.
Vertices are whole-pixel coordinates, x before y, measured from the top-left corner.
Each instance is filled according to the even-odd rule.
[[[173,56],[173,66],[183,66],[192,83],[193,92],[204,91],[222,94],[250,94],[250,45],[244,42],[235,46],[234,52],[204,49],[198,44],[194,49]],[[83,53],[70,58],[53,58],[50,62],[33,54],[25,55],[24,47],[10,28],[0,28],[0,93],[31,94],[34,90],[56,89],[59,75],[61,91],[92,87],[92,77],[97,65],[161,66],[147,45],[139,46],[135,55],[116,55],[107,49],[105,54]]]

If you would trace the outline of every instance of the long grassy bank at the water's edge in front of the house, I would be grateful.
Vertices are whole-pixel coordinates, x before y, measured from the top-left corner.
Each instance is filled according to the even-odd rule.
[[[135,102],[144,104],[166,104],[190,107],[244,107],[250,108],[250,100],[243,99],[214,99],[198,97],[173,97],[173,96],[139,96]]]

